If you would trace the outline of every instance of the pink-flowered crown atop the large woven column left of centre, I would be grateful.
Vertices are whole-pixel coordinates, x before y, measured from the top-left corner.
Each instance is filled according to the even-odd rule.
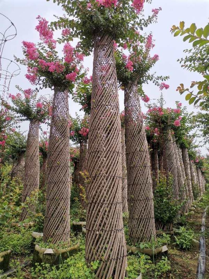
[[[36,45],[33,42],[23,41],[23,54],[25,59],[16,57],[16,61],[27,66],[28,73],[25,75],[32,85],[39,85],[40,88],[74,88],[74,83],[83,76],[84,54],[76,51],[67,42],[63,47],[63,57],[58,56],[56,51],[56,40],[53,39],[53,31],[48,27],[45,18],[37,17],[40,42]]]

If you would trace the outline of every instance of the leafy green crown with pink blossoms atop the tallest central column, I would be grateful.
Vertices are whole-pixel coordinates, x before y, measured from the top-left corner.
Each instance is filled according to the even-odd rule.
[[[49,0],[48,0],[49,1]],[[146,0],[149,2],[149,0]],[[72,37],[80,38],[79,47],[87,54],[93,49],[94,36],[109,34],[117,43],[133,40],[136,31],[156,20],[159,9],[153,9],[152,16],[141,18],[145,0],[55,0],[66,12],[52,22],[54,28],[67,28],[61,42]]]

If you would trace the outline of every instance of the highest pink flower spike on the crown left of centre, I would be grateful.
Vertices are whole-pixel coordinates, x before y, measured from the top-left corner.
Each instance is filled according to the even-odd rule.
[[[48,28],[48,21],[40,16],[37,16],[37,19],[38,25],[35,29],[38,31],[40,39],[45,44],[50,44],[50,46],[55,49],[56,41],[53,39],[53,31]]]

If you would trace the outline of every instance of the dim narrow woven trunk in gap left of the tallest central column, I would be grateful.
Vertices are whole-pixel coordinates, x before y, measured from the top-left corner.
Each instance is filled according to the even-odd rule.
[[[87,139],[80,142],[80,159],[79,159],[79,181],[80,201],[83,208],[86,208],[86,200],[83,195],[86,193],[85,178],[82,175],[87,169]]]

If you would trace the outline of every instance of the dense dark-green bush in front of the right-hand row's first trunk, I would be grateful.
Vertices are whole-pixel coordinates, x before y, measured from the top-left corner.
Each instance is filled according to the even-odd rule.
[[[173,223],[182,206],[178,200],[173,199],[172,183],[173,179],[171,176],[167,181],[166,176],[160,174],[159,183],[154,191],[155,220],[163,224]]]

